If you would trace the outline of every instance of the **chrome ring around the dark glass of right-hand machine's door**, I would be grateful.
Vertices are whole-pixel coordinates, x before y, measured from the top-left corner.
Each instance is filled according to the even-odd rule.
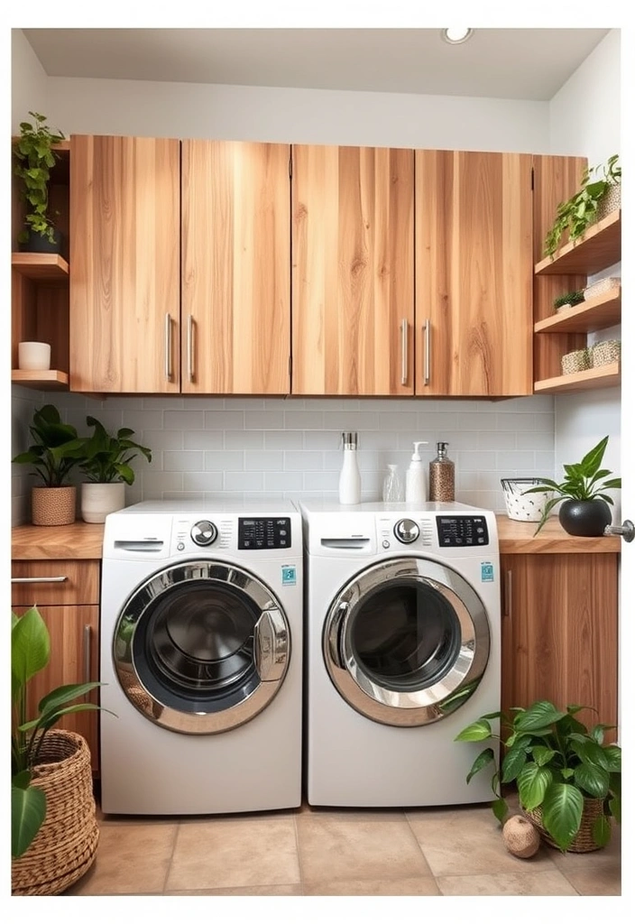
[[[430,687],[401,692],[373,681],[355,660],[351,624],[371,590],[399,579],[425,583],[442,594],[457,616],[461,648],[449,672]],[[324,624],[322,649],[329,676],[349,705],[374,722],[415,726],[458,709],[480,683],[489,658],[489,621],[473,587],[446,565],[420,558],[390,559],[353,577],[336,595]]]

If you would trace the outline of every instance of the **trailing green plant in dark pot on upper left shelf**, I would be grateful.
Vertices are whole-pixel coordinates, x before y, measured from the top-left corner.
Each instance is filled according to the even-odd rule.
[[[41,113],[29,115],[33,121],[20,122],[19,138],[13,144],[16,158],[13,171],[21,180],[20,196],[27,208],[18,244],[23,245],[21,249],[38,253],[59,253],[62,236],[55,228],[49,208],[49,182],[51,168],[59,156],[54,145],[65,136],[50,128]]]

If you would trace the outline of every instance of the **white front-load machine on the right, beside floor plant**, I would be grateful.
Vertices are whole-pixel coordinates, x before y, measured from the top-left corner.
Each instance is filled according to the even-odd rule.
[[[309,804],[491,801],[486,772],[466,782],[483,744],[455,737],[500,708],[496,517],[458,503],[300,510]]]

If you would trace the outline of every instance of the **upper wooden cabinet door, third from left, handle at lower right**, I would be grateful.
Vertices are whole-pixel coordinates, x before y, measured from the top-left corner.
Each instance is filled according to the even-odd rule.
[[[413,165],[294,145],[294,395],[413,395]]]

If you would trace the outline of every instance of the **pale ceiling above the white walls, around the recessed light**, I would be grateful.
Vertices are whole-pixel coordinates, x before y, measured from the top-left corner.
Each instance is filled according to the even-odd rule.
[[[550,100],[607,29],[25,29],[50,77]]]

